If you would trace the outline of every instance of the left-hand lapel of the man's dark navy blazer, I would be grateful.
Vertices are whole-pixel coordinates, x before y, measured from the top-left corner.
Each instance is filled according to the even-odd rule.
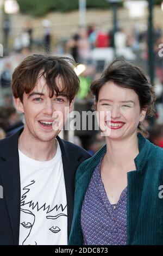
[[[14,245],[18,245],[20,227],[20,168],[18,158],[18,137],[22,130],[6,139],[0,158],[1,179],[4,199],[7,203]],[[7,141],[8,140],[8,141]],[[1,148],[2,150],[2,148]]]

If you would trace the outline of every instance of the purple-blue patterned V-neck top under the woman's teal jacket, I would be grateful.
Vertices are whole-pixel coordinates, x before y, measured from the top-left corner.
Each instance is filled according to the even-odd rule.
[[[101,161],[93,172],[82,205],[84,245],[127,244],[127,187],[117,204],[110,204],[101,179]]]

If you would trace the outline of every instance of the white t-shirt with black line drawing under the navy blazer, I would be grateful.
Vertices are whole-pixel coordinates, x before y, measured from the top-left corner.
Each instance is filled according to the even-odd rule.
[[[21,177],[20,245],[67,245],[67,198],[61,150],[50,161],[18,150]]]

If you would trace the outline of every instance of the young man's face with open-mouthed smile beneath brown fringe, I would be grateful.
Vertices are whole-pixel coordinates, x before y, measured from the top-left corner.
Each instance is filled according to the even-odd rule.
[[[57,77],[56,82],[61,90],[61,78]],[[54,94],[52,98],[49,97],[49,89],[43,76],[32,92],[23,94],[23,103],[20,99],[15,99],[15,103],[17,110],[24,113],[26,135],[43,142],[51,141],[58,135],[73,107],[73,101],[70,104],[66,96]]]

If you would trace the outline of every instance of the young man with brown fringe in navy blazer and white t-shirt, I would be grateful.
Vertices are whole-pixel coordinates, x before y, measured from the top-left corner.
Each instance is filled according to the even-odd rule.
[[[34,54],[12,75],[24,129],[0,142],[0,245],[67,245],[86,151],[58,137],[79,80],[73,61]]]

